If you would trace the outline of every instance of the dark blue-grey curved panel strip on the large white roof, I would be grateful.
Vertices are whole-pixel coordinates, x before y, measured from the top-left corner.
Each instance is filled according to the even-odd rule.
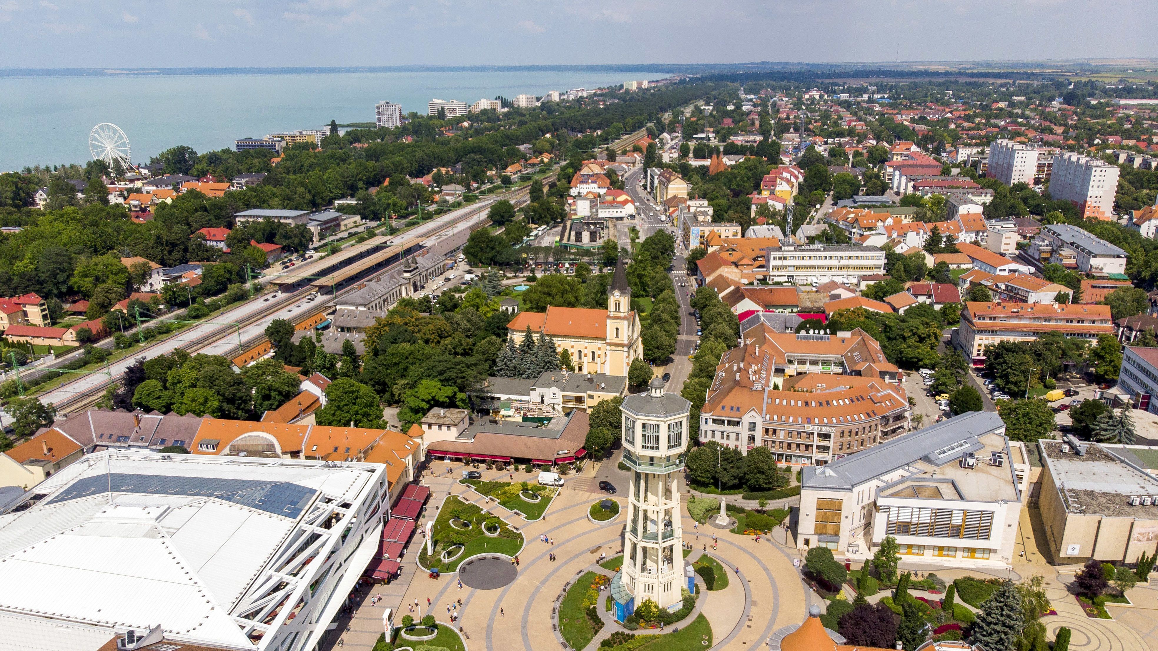
[[[112,473],[82,477],[63,489],[49,504],[109,492],[215,498],[274,515],[296,519],[317,490],[290,482],[225,477],[181,477]]]

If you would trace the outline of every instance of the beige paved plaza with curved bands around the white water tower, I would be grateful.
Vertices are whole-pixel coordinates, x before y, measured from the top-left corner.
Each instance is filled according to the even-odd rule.
[[[457,478],[461,469],[459,463],[435,462],[424,475],[423,483],[431,487],[433,492],[422,524],[437,515],[448,495],[490,507],[526,539],[518,555],[518,568],[505,557],[484,555],[476,557],[468,566],[462,575],[461,586],[459,573],[430,578],[417,568],[417,551],[424,540],[416,535],[406,551],[403,577],[357,595],[357,607],[340,621],[340,628],[336,631],[338,635],[328,641],[329,649],[337,649],[339,639],[343,642],[342,649],[373,649],[382,632],[382,613],[387,607],[398,609],[396,621],[405,614],[418,619],[430,612],[439,622],[449,624],[453,615],[455,628],[462,627],[463,642],[472,651],[563,649],[562,637],[554,629],[552,609],[558,606],[558,599],[566,592],[566,586],[587,571],[604,576],[614,573],[600,568],[598,563],[601,555],[610,558],[622,554],[623,549],[622,515],[606,524],[595,524],[587,518],[591,505],[596,499],[607,497],[599,491],[596,480],[607,469],[588,465],[582,475],[566,477],[566,485],[551,503],[545,517],[530,522],[518,514],[497,509],[493,503],[488,505],[484,497],[470,490],[470,487],[460,484]],[[508,478],[506,473],[499,471],[483,471],[483,475],[486,480]],[[525,474],[515,475],[515,480],[527,477]],[[623,505],[624,492],[610,497]],[[1038,542],[1040,529],[1036,511],[1023,510],[1018,551],[1024,550],[1025,556],[1019,555],[1020,561],[1002,576],[1017,580],[1036,573],[1046,578],[1047,593],[1057,610],[1057,615],[1042,620],[1050,636],[1064,626],[1073,631],[1070,649],[1075,651],[1158,651],[1158,590],[1142,584],[1128,593],[1134,606],[1108,604],[1107,610],[1114,620],[1086,617],[1065,587],[1078,568],[1049,565],[1048,550]],[[714,549],[712,534],[717,536]],[[548,537],[548,542],[540,540],[543,535]],[[793,565],[793,561],[800,556],[791,533],[785,537],[783,529],[777,529],[772,536],[771,541],[762,536],[757,543],[753,536],[696,527],[687,511],[683,511],[683,539],[695,550],[688,559],[695,561],[698,555],[709,554],[731,572],[728,586],[719,591],[702,592],[696,610],[684,620],[691,621],[701,613],[708,619],[712,628],[711,649],[760,648],[777,629],[799,624],[809,605],[818,604],[824,608],[823,600],[807,588]],[[554,562],[550,559],[552,554],[556,557]],[[979,570],[929,566],[914,569],[936,571],[945,580],[969,575],[979,578],[985,576]],[[376,604],[371,604],[371,595],[380,597]],[[426,606],[427,599],[430,608]],[[410,608],[415,610],[411,612]],[[607,615],[602,608],[599,612],[601,616]],[[604,619],[608,623],[588,649],[598,648],[601,639],[618,628],[613,620]],[[350,627],[349,630],[346,627]]]

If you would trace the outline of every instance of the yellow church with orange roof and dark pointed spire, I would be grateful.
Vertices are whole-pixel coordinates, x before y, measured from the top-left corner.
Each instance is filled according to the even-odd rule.
[[[515,343],[522,342],[528,326],[536,338],[545,332],[555,339],[560,354],[567,351],[578,373],[626,375],[631,363],[644,354],[622,259],[607,290],[607,309],[549,306],[547,312],[520,312],[507,326]]]

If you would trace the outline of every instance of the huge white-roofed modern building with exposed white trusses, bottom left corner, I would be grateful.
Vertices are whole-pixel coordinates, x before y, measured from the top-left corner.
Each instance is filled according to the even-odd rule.
[[[313,650],[388,498],[378,463],[90,454],[0,514],[0,649]]]

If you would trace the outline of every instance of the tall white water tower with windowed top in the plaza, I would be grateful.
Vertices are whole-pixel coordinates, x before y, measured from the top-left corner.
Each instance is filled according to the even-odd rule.
[[[623,462],[631,468],[623,571],[611,579],[616,617],[645,600],[660,608],[679,604],[686,586],[679,478],[687,449],[691,403],[664,393],[664,380],[624,398]]]

